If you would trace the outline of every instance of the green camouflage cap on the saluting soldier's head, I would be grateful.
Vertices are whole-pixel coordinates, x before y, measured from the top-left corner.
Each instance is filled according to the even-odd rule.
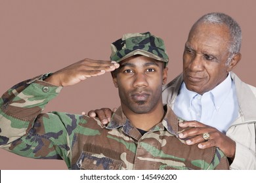
[[[150,32],[125,34],[111,44],[111,50],[110,59],[117,63],[137,54],[163,61],[165,66],[169,61],[163,40]]]

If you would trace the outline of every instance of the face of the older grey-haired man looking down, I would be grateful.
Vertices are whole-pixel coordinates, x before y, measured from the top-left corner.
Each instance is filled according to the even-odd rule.
[[[183,53],[183,76],[188,90],[201,95],[223,82],[230,68],[228,28],[199,24],[188,36]]]

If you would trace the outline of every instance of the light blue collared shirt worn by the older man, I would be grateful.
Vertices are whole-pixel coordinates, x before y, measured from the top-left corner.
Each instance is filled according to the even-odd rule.
[[[181,85],[173,107],[175,114],[184,120],[196,120],[226,133],[238,118],[238,99],[236,88],[230,76],[209,92],[200,95]]]

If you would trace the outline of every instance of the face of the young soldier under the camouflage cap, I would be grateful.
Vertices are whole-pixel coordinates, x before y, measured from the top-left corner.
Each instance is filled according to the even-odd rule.
[[[154,108],[163,107],[162,85],[167,80],[167,68],[163,67],[163,62],[145,56],[121,61],[113,80],[125,114],[147,114]]]

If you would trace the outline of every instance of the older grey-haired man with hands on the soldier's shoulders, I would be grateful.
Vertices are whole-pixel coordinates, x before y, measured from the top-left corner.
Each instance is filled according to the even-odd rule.
[[[181,127],[192,127],[179,134],[188,138],[186,144],[217,146],[231,169],[256,169],[256,89],[232,73],[241,59],[241,42],[240,26],[230,16],[203,15],[188,35],[183,73],[163,88],[163,103],[188,121]],[[106,120],[102,111],[98,117]]]

